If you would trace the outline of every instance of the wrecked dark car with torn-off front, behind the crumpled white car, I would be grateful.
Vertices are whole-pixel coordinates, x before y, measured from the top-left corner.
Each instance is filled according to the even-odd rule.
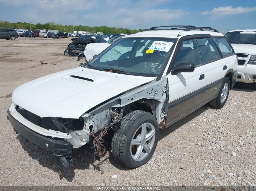
[[[80,53],[84,52],[87,44],[106,42],[106,40],[99,35],[83,35],[79,38],[72,38],[71,40],[72,43],[70,43],[68,48],[65,49],[64,55],[78,56]]]

